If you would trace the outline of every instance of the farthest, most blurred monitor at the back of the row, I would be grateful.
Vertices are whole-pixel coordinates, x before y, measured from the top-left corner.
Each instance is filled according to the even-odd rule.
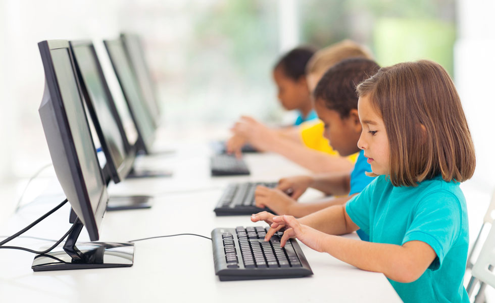
[[[137,77],[142,95],[147,106],[152,109],[155,124],[160,124],[161,109],[158,102],[155,83],[152,80],[149,66],[146,63],[141,39],[136,34],[121,33],[120,38],[124,43],[124,49],[130,60],[131,67]]]

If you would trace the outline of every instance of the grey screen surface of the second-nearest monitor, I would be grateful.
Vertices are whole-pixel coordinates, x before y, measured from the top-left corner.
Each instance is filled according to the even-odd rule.
[[[87,104],[96,132],[101,137],[105,156],[112,161],[112,174],[119,174],[123,168],[126,157],[125,142],[119,130],[120,121],[112,111],[115,109],[110,91],[102,78],[100,69],[95,61],[93,49],[90,44],[73,45],[74,59],[79,67],[82,77],[81,88],[87,93]],[[103,137],[103,138],[102,138]],[[110,163],[109,163],[110,164]],[[127,168],[127,172],[130,168]],[[125,176],[114,176],[114,181],[119,182]]]

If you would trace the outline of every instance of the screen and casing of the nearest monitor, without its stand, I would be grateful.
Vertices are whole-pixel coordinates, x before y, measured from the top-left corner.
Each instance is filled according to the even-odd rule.
[[[98,239],[108,201],[107,187],[84,112],[69,43],[38,43],[45,72],[39,108],[57,178],[92,241]]]

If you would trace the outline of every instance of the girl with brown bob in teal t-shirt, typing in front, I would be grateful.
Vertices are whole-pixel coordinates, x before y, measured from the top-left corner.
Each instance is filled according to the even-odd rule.
[[[363,130],[358,146],[374,175],[345,206],[306,217],[263,212],[266,238],[285,227],[296,237],[360,269],[381,272],[405,302],[469,302],[463,286],[468,250],[466,201],[475,153],[455,86],[430,61],[382,68],[357,87]],[[336,235],[358,228],[370,242]]]

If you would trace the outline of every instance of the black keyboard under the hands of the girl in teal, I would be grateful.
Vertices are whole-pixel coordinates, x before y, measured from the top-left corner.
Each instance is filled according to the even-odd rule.
[[[215,274],[220,281],[295,278],[313,274],[295,239],[280,247],[279,231],[264,241],[269,227],[216,228],[212,231]]]

